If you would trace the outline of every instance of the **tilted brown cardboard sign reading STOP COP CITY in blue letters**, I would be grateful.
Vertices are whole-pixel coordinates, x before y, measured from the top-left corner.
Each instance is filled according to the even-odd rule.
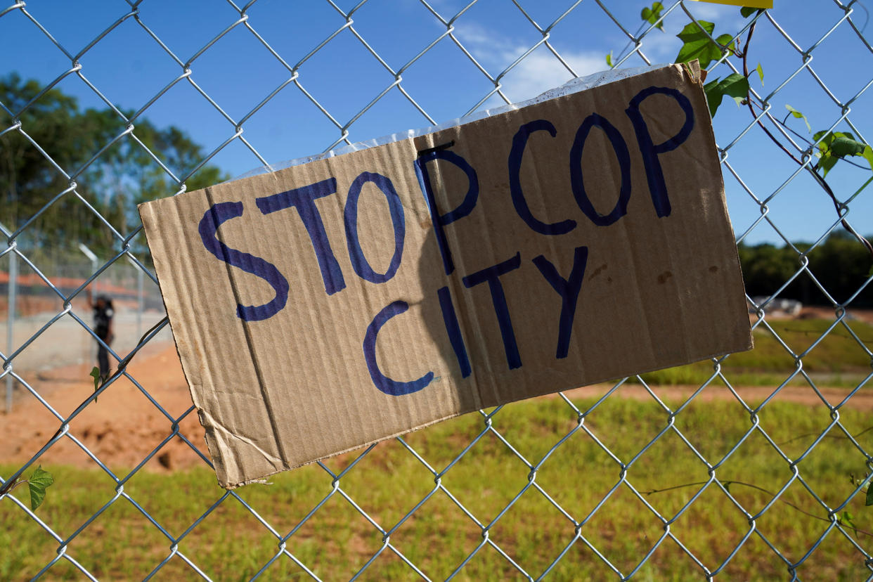
[[[225,487],[752,346],[678,65],[140,212]]]

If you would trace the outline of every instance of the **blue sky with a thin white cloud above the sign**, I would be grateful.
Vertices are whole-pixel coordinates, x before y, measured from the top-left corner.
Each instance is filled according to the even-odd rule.
[[[336,4],[340,10],[351,10],[357,3],[337,0]],[[519,0],[519,4],[543,27],[574,6],[571,0]],[[643,2],[604,0],[603,4],[629,31],[636,32],[643,24],[639,17]],[[673,6],[672,2],[664,4],[667,9]],[[449,19],[463,10],[467,2],[433,0],[430,5]],[[66,51],[76,55],[129,13],[130,6],[123,0],[75,3],[34,0],[27,3],[26,10]],[[715,22],[716,34],[735,33],[746,23],[736,7],[691,1],[677,5],[665,19],[665,31],[652,30],[643,39],[643,52],[653,63],[670,62],[676,57],[681,43],[675,35],[689,22],[684,10]],[[349,28],[306,58],[345,24],[340,11],[326,1],[259,0],[246,14],[248,20],[244,24],[238,24],[190,63],[190,79],[231,119],[238,121],[291,77],[285,65],[247,25],[265,39],[285,64],[294,67],[303,61],[298,69],[299,86],[287,84],[244,122],[242,136],[265,161],[278,163],[317,154],[340,139],[340,130],[313,105],[301,87],[344,126],[394,82],[391,73]],[[771,14],[801,51],[795,50],[776,25],[761,19],[754,33],[750,63],[751,66],[761,63],[765,79],[761,86],[760,80],[753,77],[753,86],[767,95],[790,79],[770,99],[773,113],[780,116],[787,113],[784,106],[790,104],[807,115],[813,131],[831,127],[839,119],[841,109],[815,75],[836,99],[845,102],[873,79],[873,53],[845,20],[817,44],[844,16],[835,3],[776,0]],[[237,22],[240,15],[233,5],[223,0],[144,0],[139,5],[139,18],[185,63],[212,38]],[[446,31],[445,25],[417,0],[370,0],[354,11],[353,19],[354,31],[395,71]],[[862,3],[855,3],[852,21],[861,29],[866,20],[866,8]],[[492,75],[511,65],[541,38],[540,32],[511,0],[480,0],[453,24],[458,40]],[[873,38],[873,34],[870,37]],[[614,57],[620,56],[627,37],[597,3],[584,0],[553,27],[549,42],[574,72],[585,75],[607,68],[605,55],[612,51]],[[815,75],[804,69],[792,77],[803,63],[801,52],[814,45],[809,64]],[[18,72],[24,78],[38,79],[44,84],[51,83],[72,66],[70,58],[20,10],[0,17],[0,54],[3,55],[0,75]],[[739,66],[738,59],[732,60]],[[134,17],[127,17],[109,31],[79,58],[79,64],[82,76],[108,100],[134,110],[145,106],[183,72],[182,66]],[[634,54],[621,66],[644,64],[643,59]],[[730,72],[726,65],[718,65],[711,74],[725,76]],[[541,45],[505,75],[503,92],[512,101],[528,99],[570,78],[570,72]],[[467,113],[493,88],[448,37],[402,72],[401,86],[437,123]],[[105,106],[77,74],[65,77],[58,87],[77,96],[81,106]],[[873,99],[873,89],[851,104],[849,119],[857,132],[845,121],[836,129],[873,139],[870,138],[873,135],[870,99]],[[493,95],[480,107],[503,103],[503,99]],[[235,134],[234,124],[187,79],[172,86],[148,106],[143,115],[158,126],[181,127],[208,152]],[[714,120],[719,145],[724,147],[735,140],[751,119],[746,108],[740,109],[725,100]],[[354,120],[348,128],[348,139],[368,140],[429,125],[430,120],[395,86]],[[803,120],[792,119],[789,125],[799,134],[810,136]],[[120,124],[121,129],[123,124]],[[757,127],[729,150],[728,161],[761,198],[781,188],[797,168]],[[218,152],[211,162],[230,175],[240,175],[260,166],[258,157],[238,139]],[[189,168],[173,169],[182,175]],[[828,181],[837,196],[846,199],[868,177],[870,170],[840,162],[828,175]],[[725,189],[734,229],[739,235],[760,216],[760,209],[739,181],[726,171]],[[815,240],[836,220],[832,203],[805,173],[788,182],[768,207],[769,216],[791,240]],[[849,208],[849,219],[856,229],[873,234],[873,189],[864,190]],[[780,236],[766,223],[753,229],[746,240],[781,242]]]

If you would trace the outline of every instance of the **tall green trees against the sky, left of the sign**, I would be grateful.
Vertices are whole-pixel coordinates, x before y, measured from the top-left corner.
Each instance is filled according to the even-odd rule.
[[[16,73],[0,78],[0,132],[15,125],[16,114],[21,128],[0,135],[0,223],[17,229],[51,202],[17,239],[20,248],[63,260],[80,258],[76,247],[85,243],[101,257],[111,256],[121,245],[101,216],[127,236],[140,223],[138,203],[173,195],[179,187],[128,134],[75,176],[75,190],[70,190],[70,181],[52,161],[68,174],[79,172],[127,122],[109,107],[83,109],[78,99],[58,88],[40,95],[42,89],[38,81]],[[128,119],[134,114],[119,110]],[[178,127],[155,127],[140,117],[134,120],[134,135],[177,176],[196,168],[206,155]],[[228,177],[206,164],[185,183],[194,190]],[[143,250],[144,236],[132,245]]]

